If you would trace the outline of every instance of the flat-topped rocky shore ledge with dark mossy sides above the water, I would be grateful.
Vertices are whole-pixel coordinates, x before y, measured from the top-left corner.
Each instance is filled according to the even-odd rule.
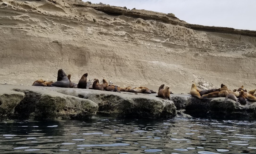
[[[93,115],[129,118],[200,117],[256,119],[256,102],[236,104],[225,97],[197,99],[171,94],[109,92],[92,89],[0,85],[0,119],[85,119]]]

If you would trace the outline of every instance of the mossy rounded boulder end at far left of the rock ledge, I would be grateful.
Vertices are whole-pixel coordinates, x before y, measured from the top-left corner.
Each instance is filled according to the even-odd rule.
[[[24,97],[25,94],[22,92],[0,90],[0,120],[9,119],[13,116],[14,108]]]

